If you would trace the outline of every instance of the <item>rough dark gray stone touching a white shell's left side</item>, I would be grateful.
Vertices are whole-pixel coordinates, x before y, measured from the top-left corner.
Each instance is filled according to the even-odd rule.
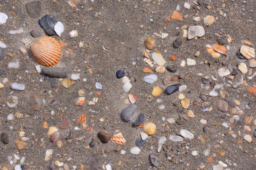
[[[55,24],[58,23],[55,17],[51,15],[44,15],[38,20],[38,24],[44,29],[46,34],[48,35],[55,35],[56,32],[54,31]]]

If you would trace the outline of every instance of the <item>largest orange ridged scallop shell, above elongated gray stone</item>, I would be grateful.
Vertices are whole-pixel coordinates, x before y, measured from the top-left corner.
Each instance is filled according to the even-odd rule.
[[[61,58],[61,45],[52,37],[43,37],[31,46],[37,62],[44,66],[56,65]]]

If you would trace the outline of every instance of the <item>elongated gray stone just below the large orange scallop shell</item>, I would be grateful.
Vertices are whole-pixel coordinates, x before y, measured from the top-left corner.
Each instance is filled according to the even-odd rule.
[[[61,67],[42,68],[42,73],[44,73],[48,77],[55,77],[55,78],[66,78],[68,71],[69,70],[67,68],[61,68]]]

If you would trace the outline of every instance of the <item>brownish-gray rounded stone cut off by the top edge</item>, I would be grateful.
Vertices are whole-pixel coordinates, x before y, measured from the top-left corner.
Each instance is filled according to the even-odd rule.
[[[40,0],[34,0],[26,3],[26,10],[30,17],[38,18],[43,10],[43,4]]]

